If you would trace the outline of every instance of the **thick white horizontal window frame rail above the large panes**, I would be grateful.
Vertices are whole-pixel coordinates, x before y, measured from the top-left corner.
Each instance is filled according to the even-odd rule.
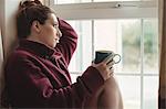
[[[54,0],[50,0],[48,4],[65,20],[157,18],[158,13],[157,0],[70,4],[54,4]]]

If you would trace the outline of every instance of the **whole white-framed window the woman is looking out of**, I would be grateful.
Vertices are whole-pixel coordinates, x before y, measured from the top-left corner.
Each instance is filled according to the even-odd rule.
[[[121,54],[114,65],[124,109],[156,109],[158,90],[157,0],[51,0],[79,34],[70,64],[73,81],[96,50]],[[128,87],[129,86],[129,87]]]

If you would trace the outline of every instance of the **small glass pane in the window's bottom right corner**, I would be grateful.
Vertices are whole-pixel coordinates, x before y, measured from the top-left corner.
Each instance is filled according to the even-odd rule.
[[[157,109],[158,76],[144,77],[144,109]]]

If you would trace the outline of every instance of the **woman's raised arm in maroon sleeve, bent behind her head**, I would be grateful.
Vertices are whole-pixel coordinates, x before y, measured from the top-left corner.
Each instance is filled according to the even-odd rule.
[[[62,32],[62,36],[60,39],[60,43],[58,43],[55,48],[63,54],[66,63],[69,64],[76,48],[77,34],[68,22],[61,19],[58,20],[60,31]]]

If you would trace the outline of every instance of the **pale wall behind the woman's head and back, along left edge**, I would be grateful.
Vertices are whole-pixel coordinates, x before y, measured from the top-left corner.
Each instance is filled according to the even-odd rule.
[[[20,0],[0,0],[0,94],[3,88],[3,64],[15,41],[15,19]],[[4,58],[3,58],[4,57]],[[1,95],[0,95],[1,97]]]

